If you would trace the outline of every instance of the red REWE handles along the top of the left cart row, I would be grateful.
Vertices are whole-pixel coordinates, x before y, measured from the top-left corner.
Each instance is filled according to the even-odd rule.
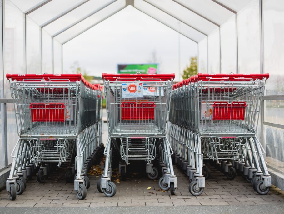
[[[92,85],[87,80],[84,79],[82,74],[6,74],[6,78],[16,80],[16,81],[42,81],[50,80],[51,82],[56,81],[66,81],[70,82],[82,81],[86,86],[93,90],[98,90],[97,85]]]

